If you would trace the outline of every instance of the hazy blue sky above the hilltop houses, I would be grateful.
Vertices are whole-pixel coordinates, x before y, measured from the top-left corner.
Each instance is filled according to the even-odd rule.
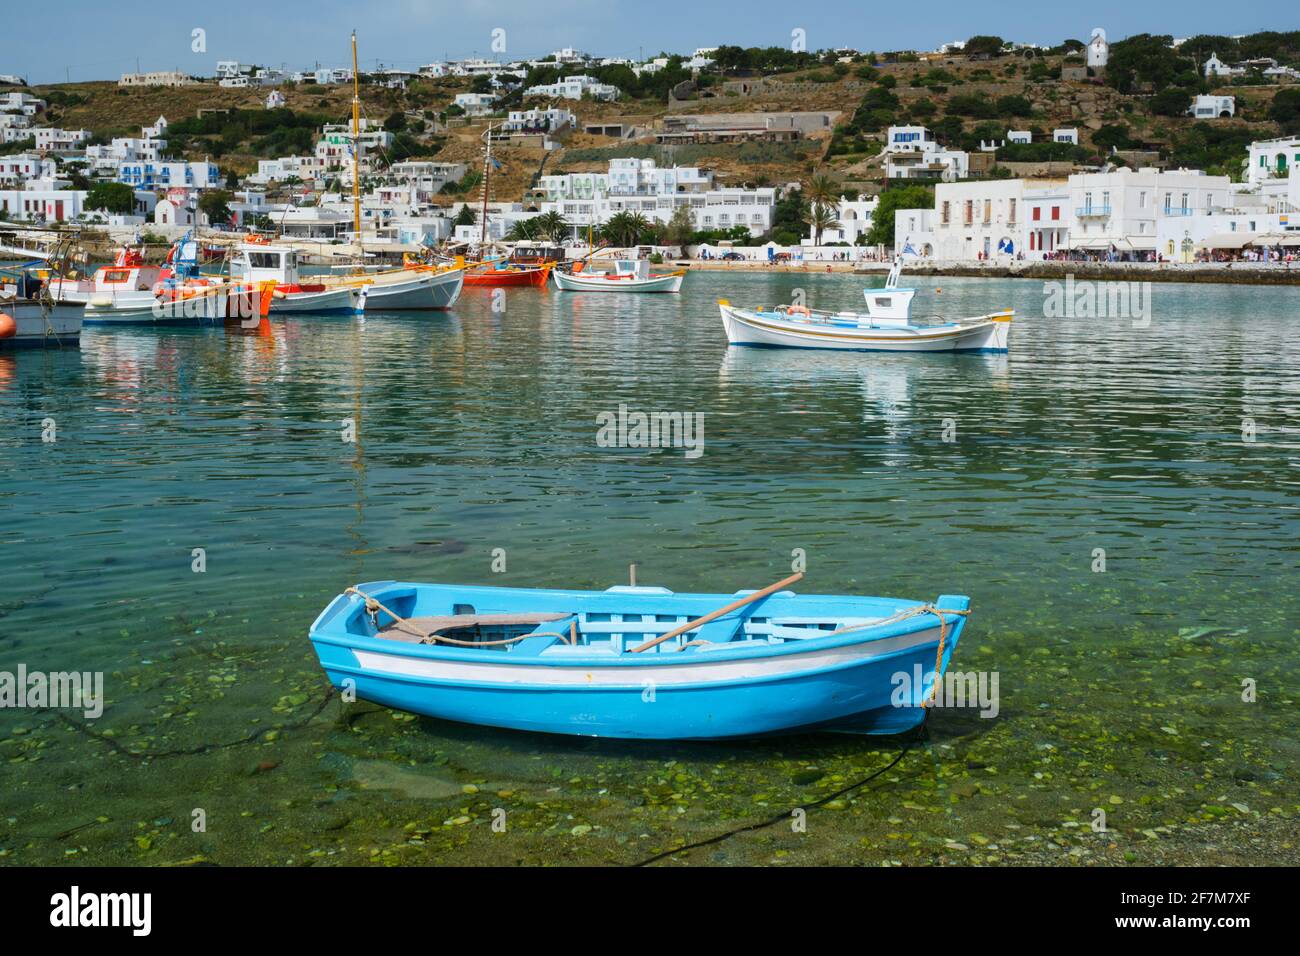
[[[603,56],[690,52],[718,43],[785,46],[805,30],[809,49],[931,49],[945,40],[996,34],[1026,43],[1087,39],[1101,26],[1112,40],[1140,33],[1192,35],[1294,30],[1284,5],[1273,12],[1216,0],[1169,7],[1095,0],[1087,10],[1050,3],[978,7],[928,0],[889,9],[866,0],[212,0],[192,4],[139,0],[6,0],[0,73],[34,83],[65,78],[116,79],[142,70],[181,69],[211,75],[217,60],[290,68],[342,66],[356,27],[363,68],[376,61],[413,69],[433,60],[491,56],[491,31],[503,29],[499,59],[534,57],[559,47]],[[1290,22],[1288,22],[1290,21]],[[207,31],[207,52],[191,51],[191,31]]]

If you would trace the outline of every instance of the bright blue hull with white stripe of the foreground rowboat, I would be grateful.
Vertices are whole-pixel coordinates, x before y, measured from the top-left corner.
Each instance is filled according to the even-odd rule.
[[[363,585],[363,591],[382,587]],[[701,597],[706,606],[707,602],[716,606],[728,596],[676,597]],[[763,614],[776,620],[780,609],[789,607],[788,613],[798,617],[796,611],[807,606],[798,602],[818,600],[822,598],[792,594],[767,598]],[[842,607],[852,598],[827,600],[838,601]],[[566,606],[564,598],[555,606]],[[650,606],[672,610],[662,605],[641,610]],[[963,613],[968,601],[948,596],[937,606]],[[892,605],[875,613],[888,615],[890,609]],[[879,635],[828,633],[790,646],[754,640],[729,643],[733,633],[707,650],[690,644],[662,654],[560,646],[555,650],[566,653],[530,657],[523,645],[517,653],[504,653],[359,633],[364,630],[363,614],[356,598],[341,597],[312,628],[312,641],[330,682],[358,698],[463,723],[658,740],[748,737],[842,722],[858,734],[902,734],[924,719],[940,636],[937,618],[926,614],[887,626]],[[686,617],[693,614],[688,611]],[[638,615],[636,619],[641,620]],[[940,674],[965,626],[959,614],[945,620]],[[344,622],[352,632],[343,627]],[[733,627],[746,626],[744,614],[734,618]],[[647,624],[618,627],[638,632]],[[723,627],[727,630],[725,620]],[[640,636],[632,643],[640,643]]]

